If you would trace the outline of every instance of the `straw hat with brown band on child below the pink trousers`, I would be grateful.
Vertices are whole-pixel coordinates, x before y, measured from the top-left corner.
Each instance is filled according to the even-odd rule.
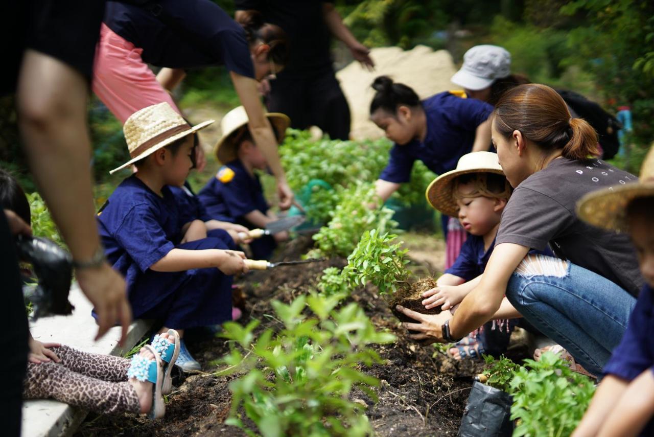
[[[131,114],[123,126],[131,160],[109,173],[131,166],[180,138],[206,128],[214,120],[191,126],[167,103],[157,103]]]

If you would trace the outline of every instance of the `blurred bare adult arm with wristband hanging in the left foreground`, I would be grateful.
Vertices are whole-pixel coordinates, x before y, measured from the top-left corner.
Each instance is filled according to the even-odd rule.
[[[18,83],[20,130],[31,173],[73,258],[91,260],[100,247],[86,126],[86,79],[73,67],[27,50]],[[78,269],[77,281],[97,311],[100,338],[116,321],[122,343],[131,322],[124,279],[107,262]]]

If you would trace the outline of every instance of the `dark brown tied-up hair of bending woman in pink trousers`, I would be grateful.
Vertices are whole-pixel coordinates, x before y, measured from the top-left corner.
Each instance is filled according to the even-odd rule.
[[[275,24],[265,23],[261,12],[243,10],[238,14],[237,23],[245,30],[247,41],[254,44],[260,41],[270,47],[268,58],[277,65],[288,62],[288,38],[286,32]]]

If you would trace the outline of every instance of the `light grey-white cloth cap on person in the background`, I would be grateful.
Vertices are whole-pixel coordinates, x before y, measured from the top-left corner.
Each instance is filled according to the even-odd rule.
[[[500,46],[483,44],[463,55],[463,66],[450,80],[466,90],[477,91],[510,74],[511,54]]]

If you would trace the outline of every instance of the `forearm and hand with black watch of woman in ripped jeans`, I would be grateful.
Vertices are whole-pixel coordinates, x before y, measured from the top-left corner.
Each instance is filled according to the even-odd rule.
[[[498,244],[490,255],[479,285],[462,300],[456,313],[450,317],[449,311],[438,315],[426,315],[404,307],[398,307],[405,315],[419,323],[403,323],[407,329],[419,331],[410,337],[414,340],[439,341],[444,343],[441,327],[450,319],[451,336],[460,338],[479,328],[497,313],[502,305],[509,277],[529,248],[513,243]]]

